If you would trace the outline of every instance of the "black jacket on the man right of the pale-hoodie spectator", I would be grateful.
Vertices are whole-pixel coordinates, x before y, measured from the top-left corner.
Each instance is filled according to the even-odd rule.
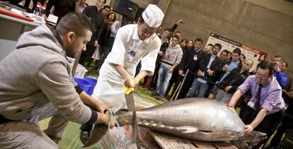
[[[200,52],[196,52],[194,48],[186,48],[179,64],[179,69],[186,71],[189,68],[190,71],[197,72],[202,55],[202,50],[200,50]],[[195,56],[197,56],[197,60],[195,60]]]

